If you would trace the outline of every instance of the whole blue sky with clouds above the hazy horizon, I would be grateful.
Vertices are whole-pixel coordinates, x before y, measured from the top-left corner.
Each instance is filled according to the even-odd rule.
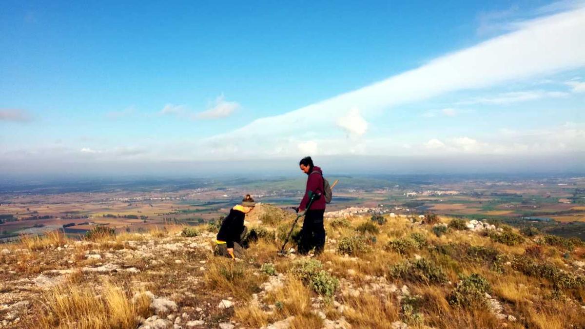
[[[580,162],[583,35],[582,1],[5,1],[0,166]]]

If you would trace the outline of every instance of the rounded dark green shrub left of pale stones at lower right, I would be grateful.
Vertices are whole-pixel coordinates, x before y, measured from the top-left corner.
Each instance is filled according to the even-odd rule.
[[[490,283],[479,274],[462,277],[457,287],[449,294],[449,304],[464,307],[480,307],[486,304],[486,293],[491,291]]]

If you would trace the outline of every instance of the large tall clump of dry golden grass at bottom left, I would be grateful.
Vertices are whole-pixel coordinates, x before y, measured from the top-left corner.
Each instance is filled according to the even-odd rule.
[[[42,299],[35,327],[131,329],[137,316],[146,316],[150,298],[144,294],[132,301],[121,287],[105,282],[98,290],[77,285],[56,286]]]

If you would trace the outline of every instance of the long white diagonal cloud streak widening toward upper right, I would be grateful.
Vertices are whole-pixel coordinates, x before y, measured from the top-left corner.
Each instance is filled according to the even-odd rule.
[[[278,146],[278,140],[305,133],[335,135],[340,117],[359,108],[366,117],[379,115],[396,105],[422,101],[457,90],[472,90],[520,81],[544,78],[547,74],[585,66],[585,7],[524,22],[521,28],[494,37],[467,49],[432,60],[386,80],[346,92],[327,100],[280,115],[256,119],[242,128],[212,136],[208,145],[254,144],[257,153],[266,154]],[[528,94],[507,95],[500,101],[534,98]],[[561,94],[549,94],[560,97]],[[261,140],[262,142],[258,142]],[[343,142],[346,143],[346,142]],[[343,150],[343,148],[340,148]],[[231,156],[224,154],[223,156]]]

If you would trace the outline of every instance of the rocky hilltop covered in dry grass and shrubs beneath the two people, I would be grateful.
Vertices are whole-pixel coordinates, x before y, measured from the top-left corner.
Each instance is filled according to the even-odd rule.
[[[292,220],[258,205],[235,261],[213,256],[213,224],[0,245],[0,327],[585,328],[581,241],[436,215],[332,214],[324,253],[299,256],[292,242],[278,256]]]

